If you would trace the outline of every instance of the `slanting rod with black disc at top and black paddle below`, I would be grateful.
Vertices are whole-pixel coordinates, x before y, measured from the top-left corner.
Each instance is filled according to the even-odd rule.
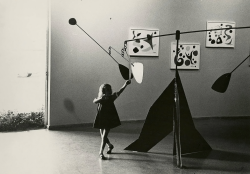
[[[76,25],[78,26],[85,34],[87,34],[97,45],[99,45],[119,66],[119,70],[120,70],[120,73],[122,75],[122,77],[125,79],[125,80],[129,80],[129,69],[122,65],[122,64],[119,64],[95,39],[93,39],[86,31],[84,31],[79,25],[77,25],[77,22],[76,22],[76,19],[75,18],[70,18],[69,19],[69,24],[70,25]],[[133,74],[131,73],[131,78],[133,78]]]

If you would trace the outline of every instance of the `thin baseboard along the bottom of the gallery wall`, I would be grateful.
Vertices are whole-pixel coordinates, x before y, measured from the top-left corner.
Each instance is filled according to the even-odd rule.
[[[250,119],[250,116],[204,116],[204,117],[193,117],[195,120],[203,120],[203,119]],[[124,120],[121,123],[144,123],[145,120]],[[92,127],[93,123],[81,123],[81,124],[67,124],[67,125],[54,125],[54,126],[46,126],[48,130],[62,130],[62,129],[70,129],[70,128],[78,128],[78,127]]]

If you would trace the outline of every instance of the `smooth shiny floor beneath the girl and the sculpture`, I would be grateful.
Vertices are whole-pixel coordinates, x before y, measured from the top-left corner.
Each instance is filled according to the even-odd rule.
[[[183,156],[185,169],[172,156],[168,135],[148,153],[123,150],[135,141],[142,122],[123,123],[109,135],[115,145],[108,160],[98,157],[98,130],[71,128],[0,133],[1,174],[161,174],[250,173],[250,119],[194,119],[211,152]]]

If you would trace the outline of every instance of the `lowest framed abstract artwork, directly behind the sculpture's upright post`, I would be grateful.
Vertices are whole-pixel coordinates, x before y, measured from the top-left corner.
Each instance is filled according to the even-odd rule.
[[[179,43],[176,59],[176,43],[171,43],[171,69],[199,69],[200,43]]]

